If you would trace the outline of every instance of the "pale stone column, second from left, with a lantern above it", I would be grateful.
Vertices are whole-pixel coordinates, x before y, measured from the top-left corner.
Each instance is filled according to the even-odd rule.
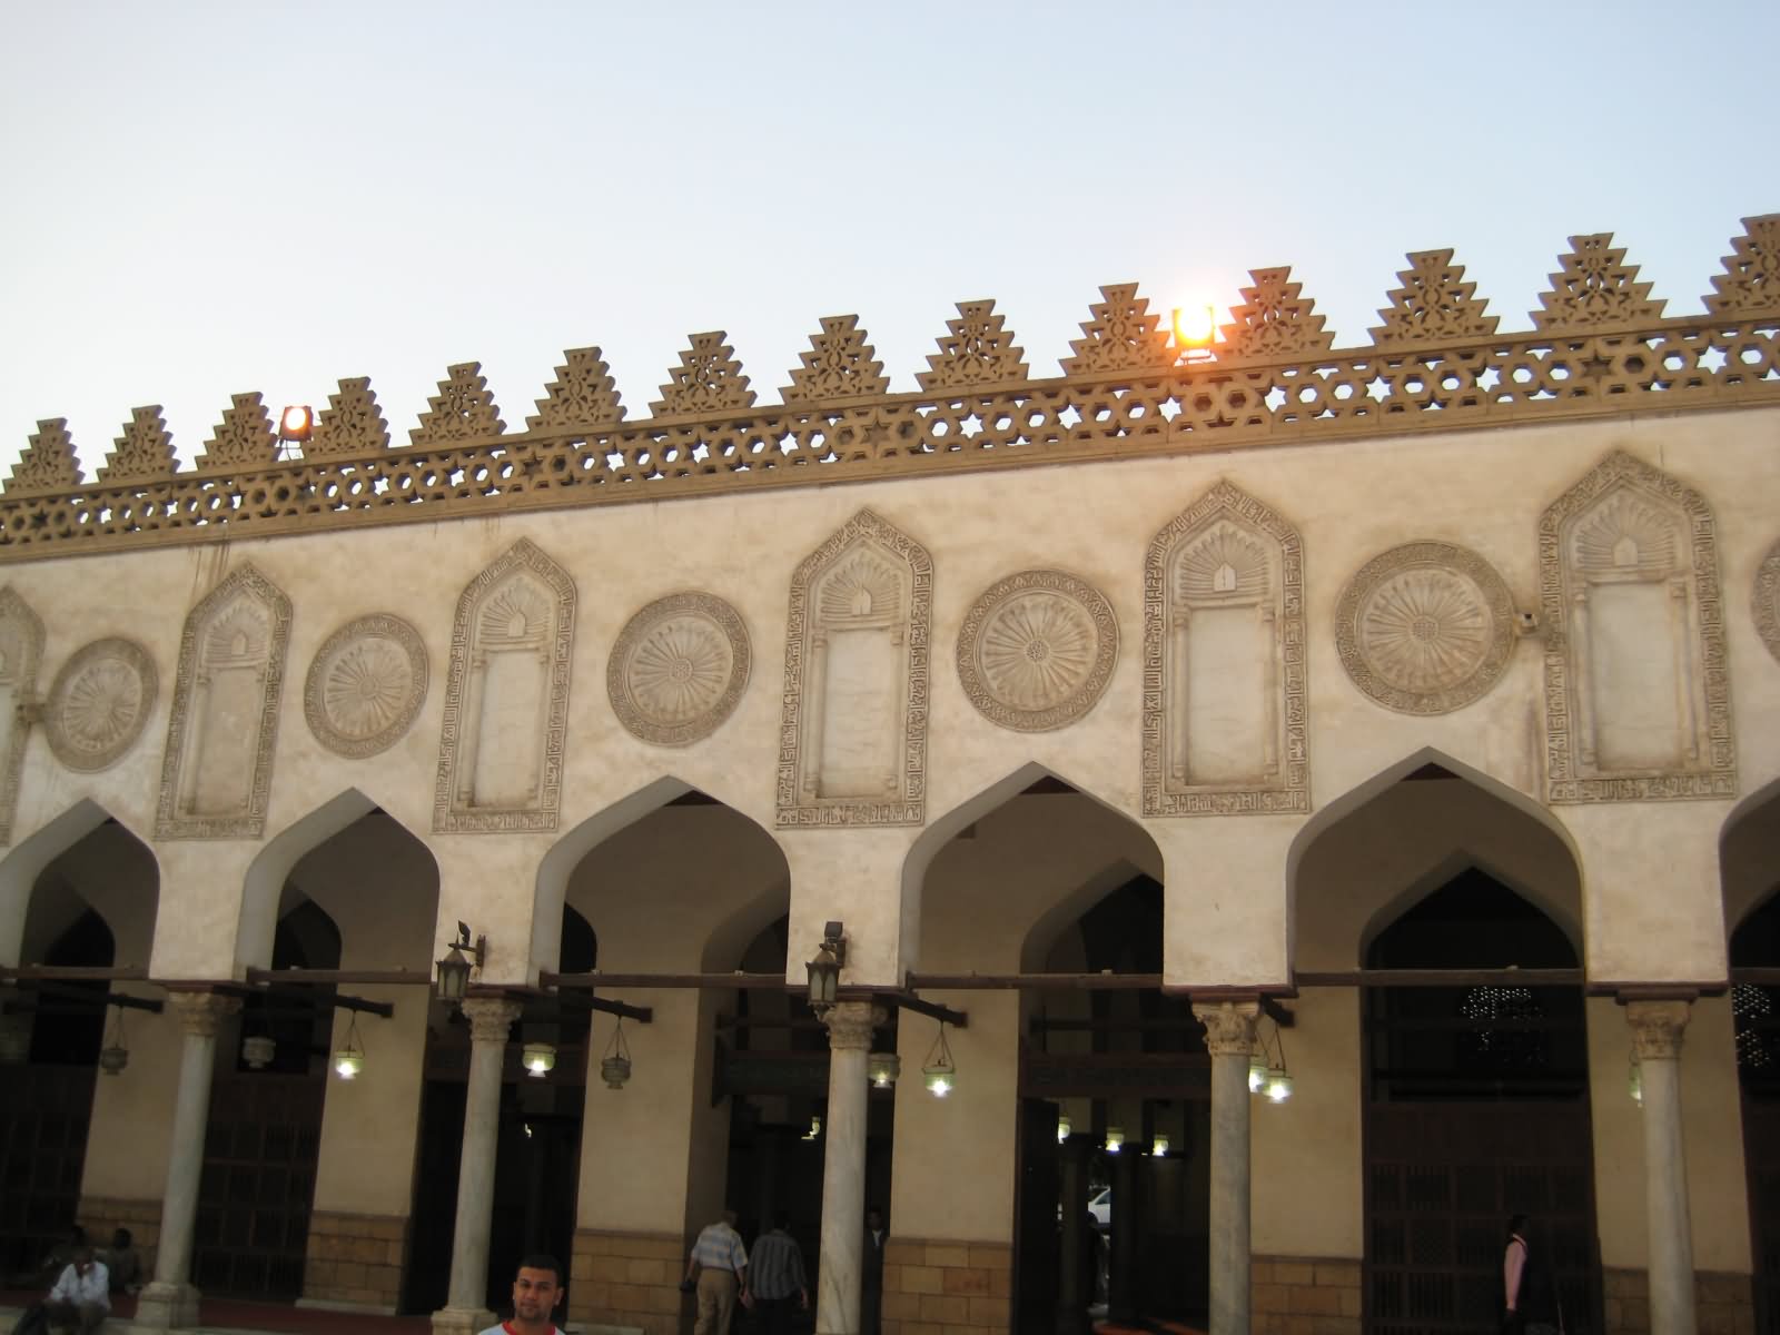
[[[457,1162],[457,1225],[450,1239],[450,1294],[433,1314],[440,1335],[468,1335],[495,1324],[488,1310],[488,1230],[495,1218],[495,1132],[500,1127],[500,1066],[520,1004],[500,997],[463,1002],[470,1020],[470,1089],[463,1107]]]

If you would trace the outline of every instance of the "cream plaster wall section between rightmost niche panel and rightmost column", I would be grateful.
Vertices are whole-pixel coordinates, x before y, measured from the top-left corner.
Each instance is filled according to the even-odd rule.
[[[1590,981],[1725,979],[1718,840],[1728,812],[1705,801],[1563,808],[1588,876]]]

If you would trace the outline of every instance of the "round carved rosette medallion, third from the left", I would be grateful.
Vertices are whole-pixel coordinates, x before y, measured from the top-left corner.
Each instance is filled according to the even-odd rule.
[[[748,627],[737,611],[708,593],[669,593],[625,623],[605,691],[632,735],[685,746],[735,712],[748,671]]]

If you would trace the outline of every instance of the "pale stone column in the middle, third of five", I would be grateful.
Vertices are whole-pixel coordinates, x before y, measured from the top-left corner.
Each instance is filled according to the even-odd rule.
[[[822,1269],[815,1283],[815,1335],[858,1335],[860,1257],[865,1242],[865,1057],[872,1029],[888,1016],[870,1002],[831,1006],[828,1025],[828,1121],[822,1136]]]

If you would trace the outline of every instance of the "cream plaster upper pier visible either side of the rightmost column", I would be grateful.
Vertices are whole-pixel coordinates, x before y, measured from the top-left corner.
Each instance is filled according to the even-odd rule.
[[[1595,1219],[1600,1264],[1643,1269],[1648,1260],[1643,1112],[1629,1088],[1630,1029],[1609,997],[1588,1000],[1590,1098],[1595,1121]],[[1680,1054],[1687,1212],[1698,1271],[1748,1274],[1743,1118],[1736,1027],[1728,997],[1693,1006]]]

